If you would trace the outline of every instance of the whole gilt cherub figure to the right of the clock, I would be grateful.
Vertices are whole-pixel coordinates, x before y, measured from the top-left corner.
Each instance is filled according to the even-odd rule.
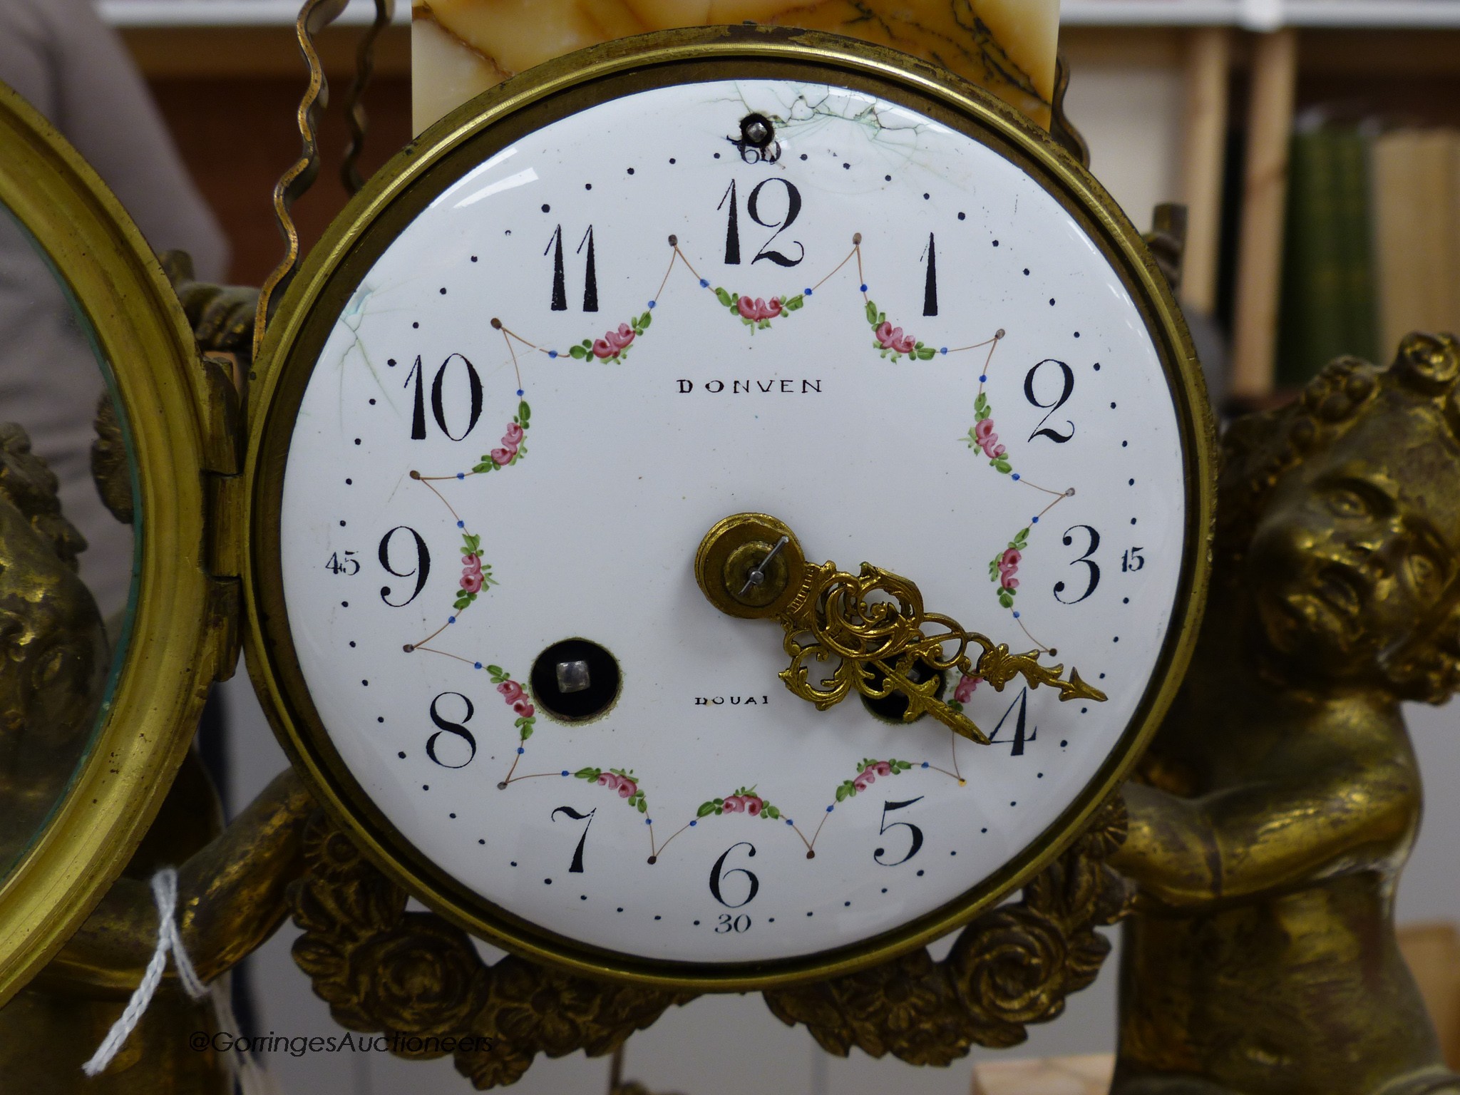
[[[1329,365],[1222,445],[1191,669],[1126,788],[1115,1095],[1460,1092],[1394,937],[1400,702],[1460,685],[1460,346]]]

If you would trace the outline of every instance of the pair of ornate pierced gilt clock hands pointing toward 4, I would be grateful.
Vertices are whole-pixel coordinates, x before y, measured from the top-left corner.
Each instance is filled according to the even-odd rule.
[[[988,736],[968,715],[939,698],[943,673],[958,670],[1000,691],[1022,676],[1031,688],[1058,689],[1061,701],[1105,699],[1104,692],[1080,680],[1079,672],[1072,669],[1064,680],[1063,666],[1040,664],[1038,651],[1012,654],[1007,644],[926,612],[923,594],[907,578],[867,562],[860,574],[838,569],[834,562],[807,564],[796,534],[766,514],[736,514],[715,524],[695,555],[695,580],[721,612],[780,620],[791,657],[780,677],[818,711],[851,692],[867,699],[901,694],[907,699],[904,723],[927,714],[988,745]],[[968,653],[969,645],[981,648],[977,658]],[[807,663],[834,657],[840,663],[829,676],[812,680]]]

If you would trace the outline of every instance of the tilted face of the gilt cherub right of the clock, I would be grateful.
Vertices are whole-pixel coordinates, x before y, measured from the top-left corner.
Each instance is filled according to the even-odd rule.
[[[1460,453],[1428,407],[1381,402],[1278,482],[1245,581],[1278,654],[1377,682],[1440,622],[1457,571]]]

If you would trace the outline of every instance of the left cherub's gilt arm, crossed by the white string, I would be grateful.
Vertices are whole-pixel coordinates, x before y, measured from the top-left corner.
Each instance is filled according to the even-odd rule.
[[[178,929],[203,981],[258,948],[285,917],[285,888],[304,870],[314,800],[293,771],[277,775],[218,838],[178,867]],[[158,942],[147,882],[123,877],[38,980],[47,987],[131,991]],[[168,977],[175,965],[168,964]]]

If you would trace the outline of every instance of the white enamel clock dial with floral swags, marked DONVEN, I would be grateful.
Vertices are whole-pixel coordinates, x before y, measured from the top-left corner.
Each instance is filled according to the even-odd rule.
[[[610,967],[845,955],[1007,888],[1132,749],[1187,610],[1190,397],[1110,244],[965,128],[804,80],[615,95],[457,172],[340,296],[288,632],[350,794],[488,926]],[[988,745],[815,710],[781,628],[696,588],[740,511],[1107,698],[955,673]]]

